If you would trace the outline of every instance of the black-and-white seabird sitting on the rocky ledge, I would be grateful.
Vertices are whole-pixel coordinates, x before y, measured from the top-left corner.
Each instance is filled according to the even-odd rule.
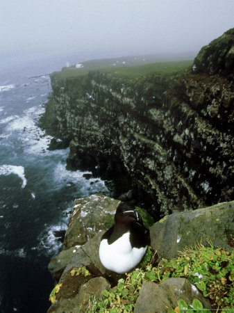
[[[147,250],[146,229],[135,207],[121,202],[115,213],[115,224],[101,237],[99,258],[109,271],[123,274],[140,263]]]

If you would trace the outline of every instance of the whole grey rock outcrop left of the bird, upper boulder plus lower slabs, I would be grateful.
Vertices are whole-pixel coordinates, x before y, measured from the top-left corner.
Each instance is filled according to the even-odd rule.
[[[103,230],[113,225],[118,205],[119,200],[105,195],[75,200],[63,250],[49,263],[53,280],[58,282],[73,267],[89,264],[95,264],[99,273],[106,273],[99,260],[99,243]]]

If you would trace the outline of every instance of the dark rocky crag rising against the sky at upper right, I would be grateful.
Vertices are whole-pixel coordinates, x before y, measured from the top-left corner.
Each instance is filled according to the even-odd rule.
[[[194,72],[230,75],[234,68],[234,29],[229,29],[219,38],[203,47],[194,59]]]

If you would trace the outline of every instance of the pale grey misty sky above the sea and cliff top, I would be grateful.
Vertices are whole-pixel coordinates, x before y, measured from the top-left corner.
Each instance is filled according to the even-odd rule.
[[[0,0],[0,56],[198,52],[234,27],[234,0]]]

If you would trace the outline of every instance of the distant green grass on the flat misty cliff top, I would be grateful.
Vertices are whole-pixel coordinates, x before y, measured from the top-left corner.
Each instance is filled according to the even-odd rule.
[[[124,58],[122,58],[124,59]],[[126,59],[126,58],[125,58]],[[116,77],[142,77],[147,74],[171,74],[174,72],[183,72],[187,67],[192,65],[192,60],[189,61],[167,61],[157,63],[141,64],[142,60],[135,62],[126,61],[127,65],[120,65],[122,61],[116,63],[114,59],[103,59],[83,62],[83,68],[65,67],[61,72],[55,72],[58,79],[68,79],[79,77],[88,74],[92,70],[98,70],[107,74],[112,74]],[[121,60],[121,58],[119,58]],[[128,62],[128,63],[127,63]],[[113,65],[116,63],[117,65]],[[140,64],[139,64],[140,63]]]

